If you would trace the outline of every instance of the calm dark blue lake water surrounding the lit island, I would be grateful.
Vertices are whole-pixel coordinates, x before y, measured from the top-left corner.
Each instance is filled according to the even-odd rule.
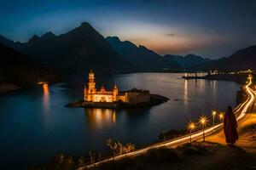
[[[235,82],[185,81],[181,76],[136,73],[105,81],[108,88],[117,82],[120,90],[145,88],[170,99],[147,109],[66,108],[63,105],[80,99],[82,91],[60,85],[1,96],[0,169],[26,168],[47,161],[58,151],[79,156],[87,155],[88,150],[108,150],[104,143],[109,137],[148,144],[157,140],[161,131],[186,127],[190,119],[213,108],[224,110],[227,105],[236,105],[239,85]]]

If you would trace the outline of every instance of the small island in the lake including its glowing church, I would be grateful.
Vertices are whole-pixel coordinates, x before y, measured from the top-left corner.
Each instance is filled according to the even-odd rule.
[[[159,105],[168,101],[168,98],[159,94],[150,94],[148,90],[132,88],[129,91],[119,92],[114,83],[113,90],[107,91],[103,85],[97,91],[95,75],[90,71],[88,83],[84,85],[84,99],[67,104],[67,107],[91,108],[130,108]]]

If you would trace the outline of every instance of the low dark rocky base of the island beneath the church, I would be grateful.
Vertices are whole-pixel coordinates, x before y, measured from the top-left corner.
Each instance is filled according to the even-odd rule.
[[[160,105],[169,99],[159,94],[150,94],[150,101],[147,103],[128,104],[124,102],[84,102],[84,100],[74,101],[67,104],[67,107],[87,107],[87,108],[135,108],[135,107],[150,107]]]

